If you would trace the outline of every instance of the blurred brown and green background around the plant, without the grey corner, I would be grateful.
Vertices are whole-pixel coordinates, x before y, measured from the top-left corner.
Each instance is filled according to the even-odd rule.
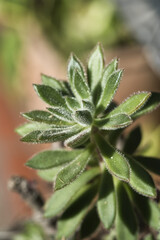
[[[118,57],[120,68],[125,69],[115,97],[118,102],[135,91],[160,91],[160,76],[152,70],[154,63],[146,58],[145,41],[138,41],[117,4],[121,3],[0,0],[0,229],[29,214],[19,196],[7,189],[10,176],[37,179],[38,186],[45,188],[35,171],[24,163],[50,145],[21,143],[14,131],[24,122],[20,112],[45,108],[32,88],[32,83],[40,83],[41,73],[66,79],[69,53],[74,51],[86,63],[91,49],[102,42],[106,63]],[[160,156],[160,110],[139,122],[143,124],[143,135],[155,146],[152,155]]]

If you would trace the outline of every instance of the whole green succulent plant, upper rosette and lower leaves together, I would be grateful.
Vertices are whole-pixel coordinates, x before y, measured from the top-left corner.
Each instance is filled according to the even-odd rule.
[[[136,240],[144,229],[155,237],[160,227],[150,175],[160,175],[160,160],[135,154],[139,127],[124,140],[120,137],[134,120],[160,105],[160,93],[134,93],[117,106],[113,97],[122,72],[117,59],[104,66],[100,45],[89,58],[87,73],[71,55],[68,82],[42,75],[43,84],[34,85],[46,111],[22,114],[29,120],[17,129],[23,142],[64,142],[64,148],[40,152],[26,163],[54,182],[44,216],[58,216],[56,239],[77,232],[86,238],[100,223],[107,230],[114,226],[118,240]]]

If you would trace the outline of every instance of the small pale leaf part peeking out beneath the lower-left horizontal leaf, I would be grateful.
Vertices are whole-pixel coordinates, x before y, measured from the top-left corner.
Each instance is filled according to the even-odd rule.
[[[62,166],[45,169],[45,170],[38,170],[37,174],[39,177],[41,177],[43,180],[47,182],[53,182],[55,180],[56,175],[58,172],[62,169]]]

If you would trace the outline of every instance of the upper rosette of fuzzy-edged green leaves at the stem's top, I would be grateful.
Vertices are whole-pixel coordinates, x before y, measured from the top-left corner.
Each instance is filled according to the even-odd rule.
[[[104,66],[102,49],[97,45],[87,71],[79,59],[71,55],[68,82],[42,75],[43,84],[34,85],[34,88],[49,106],[46,111],[23,114],[31,123],[19,128],[22,141],[63,141],[65,146],[76,148],[88,142],[94,132],[92,128],[101,132],[130,125],[131,116],[144,105],[150,93],[134,94],[116,106],[113,98],[122,77],[122,70],[117,68],[117,59]]]

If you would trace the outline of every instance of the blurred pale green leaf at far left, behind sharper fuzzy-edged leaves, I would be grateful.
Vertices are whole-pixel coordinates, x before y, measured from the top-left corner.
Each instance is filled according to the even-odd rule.
[[[23,137],[33,131],[48,129],[51,129],[51,126],[45,123],[25,123],[16,128],[16,132]]]

